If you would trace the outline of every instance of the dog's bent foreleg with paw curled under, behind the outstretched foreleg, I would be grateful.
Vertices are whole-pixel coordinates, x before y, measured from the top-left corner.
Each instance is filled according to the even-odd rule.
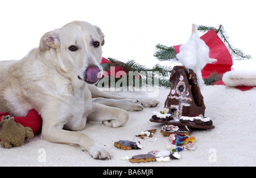
[[[129,114],[123,109],[97,103],[92,105],[93,111],[88,115],[88,121],[103,122],[104,125],[109,127],[119,127],[124,125],[129,119]]]

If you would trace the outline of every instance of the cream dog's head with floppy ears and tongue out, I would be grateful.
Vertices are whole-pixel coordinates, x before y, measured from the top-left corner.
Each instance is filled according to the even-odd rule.
[[[104,34],[99,27],[75,21],[44,34],[39,50],[56,50],[61,68],[73,69],[80,80],[95,84],[102,75],[101,46],[104,43]]]

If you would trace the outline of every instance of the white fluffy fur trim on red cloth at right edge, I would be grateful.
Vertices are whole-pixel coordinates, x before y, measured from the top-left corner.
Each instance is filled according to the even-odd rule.
[[[227,86],[256,86],[256,70],[229,71],[223,74],[222,81]]]

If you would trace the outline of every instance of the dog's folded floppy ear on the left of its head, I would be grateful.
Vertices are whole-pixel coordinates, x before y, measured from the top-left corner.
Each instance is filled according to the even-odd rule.
[[[50,48],[60,47],[60,30],[56,29],[44,34],[40,40],[39,50],[44,52]]]

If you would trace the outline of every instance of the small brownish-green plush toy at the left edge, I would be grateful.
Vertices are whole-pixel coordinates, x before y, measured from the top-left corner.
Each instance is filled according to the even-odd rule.
[[[33,138],[34,133],[30,127],[24,127],[14,121],[14,117],[7,115],[0,122],[0,144],[3,148],[19,147],[25,138]]]

